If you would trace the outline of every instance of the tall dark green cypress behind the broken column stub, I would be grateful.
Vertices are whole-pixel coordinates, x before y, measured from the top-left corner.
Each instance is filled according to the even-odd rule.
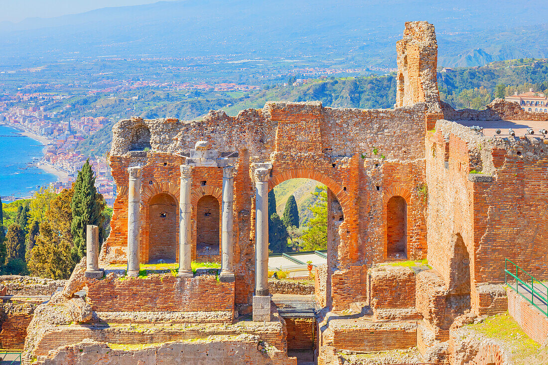
[[[78,172],[72,189],[74,195],[71,202],[71,233],[74,241],[71,254],[73,260],[78,262],[85,255],[86,226],[93,224],[101,227],[104,220],[101,212],[105,208],[105,203],[95,187],[95,176],[89,164],[89,158]],[[102,242],[101,234],[99,234],[99,242]]]

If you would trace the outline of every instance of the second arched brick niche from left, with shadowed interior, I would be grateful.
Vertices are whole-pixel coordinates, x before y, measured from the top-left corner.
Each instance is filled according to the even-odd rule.
[[[196,256],[199,260],[215,261],[210,256],[220,253],[220,204],[213,195],[204,195],[196,207]],[[209,256],[209,258],[208,258]]]

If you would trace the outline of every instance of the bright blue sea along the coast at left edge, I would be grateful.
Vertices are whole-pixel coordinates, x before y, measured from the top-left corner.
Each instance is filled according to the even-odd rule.
[[[17,133],[16,129],[0,126],[0,196],[30,196],[40,186],[58,180],[53,174],[27,166],[42,158],[44,146],[32,138],[9,136]]]

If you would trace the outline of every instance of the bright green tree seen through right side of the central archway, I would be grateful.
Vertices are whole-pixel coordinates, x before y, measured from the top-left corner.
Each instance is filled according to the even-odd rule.
[[[299,238],[298,246],[302,251],[327,249],[327,187],[316,186],[316,191],[312,194],[318,199],[309,207],[313,217]]]

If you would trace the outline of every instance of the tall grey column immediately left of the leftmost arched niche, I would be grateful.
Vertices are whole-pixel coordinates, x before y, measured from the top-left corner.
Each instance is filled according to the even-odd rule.
[[[141,167],[130,167],[128,171],[128,276],[139,276]]]

